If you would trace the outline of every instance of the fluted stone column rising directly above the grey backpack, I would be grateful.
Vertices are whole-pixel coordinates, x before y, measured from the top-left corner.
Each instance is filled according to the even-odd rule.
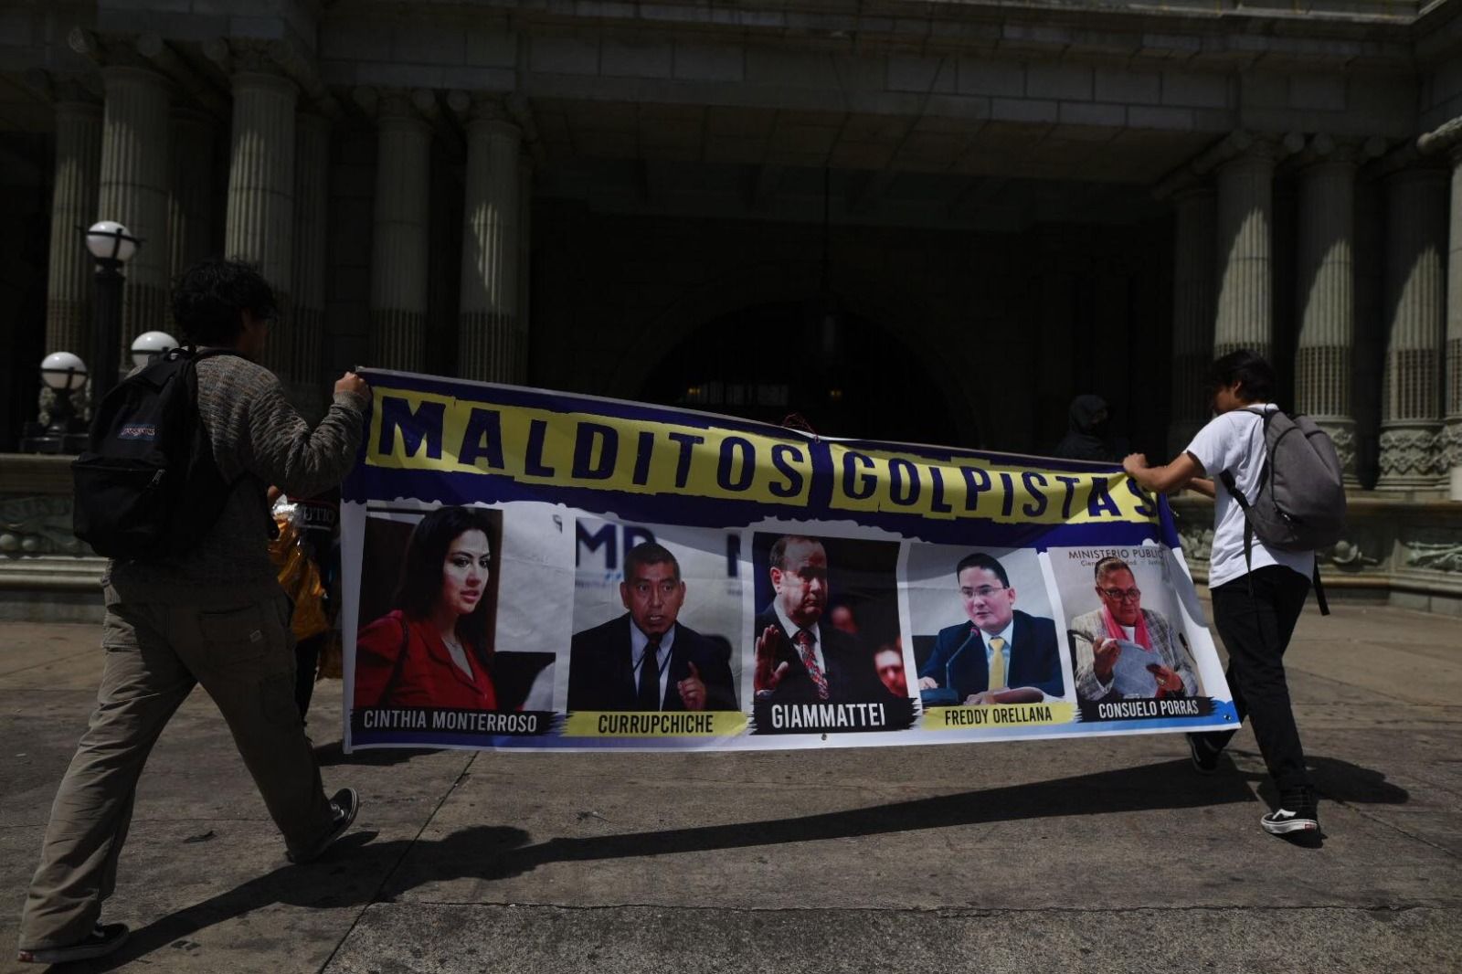
[[[1351,350],[1355,344],[1355,161],[1332,154],[1300,174],[1300,348],[1295,408],[1335,440],[1347,481],[1355,481]]]

